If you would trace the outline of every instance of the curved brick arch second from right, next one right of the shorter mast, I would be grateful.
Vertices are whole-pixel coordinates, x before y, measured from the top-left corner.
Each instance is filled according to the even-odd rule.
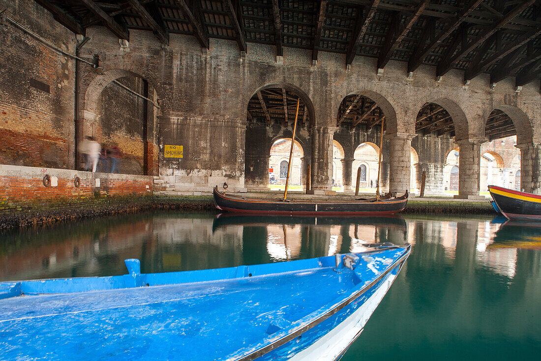
[[[414,105],[410,107],[411,111],[407,115],[407,123],[413,124],[412,134],[415,134],[415,121],[417,115],[427,103],[437,104],[447,111],[451,115],[454,126],[454,139],[468,139],[470,137],[470,127],[466,117],[466,112],[463,110],[466,107],[463,106],[460,101],[450,99],[447,94],[428,94],[421,96]]]

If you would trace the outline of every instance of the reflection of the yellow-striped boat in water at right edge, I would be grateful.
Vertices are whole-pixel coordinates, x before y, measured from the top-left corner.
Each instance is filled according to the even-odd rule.
[[[494,235],[490,248],[541,248],[541,222],[507,221]]]

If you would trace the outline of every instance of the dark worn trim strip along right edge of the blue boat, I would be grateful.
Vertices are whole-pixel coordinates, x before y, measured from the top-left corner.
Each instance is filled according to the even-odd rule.
[[[396,248],[403,248],[403,247],[398,247],[397,246]],[[261,357],[264,354],[266,354],[266,353],[268,353],[268,352],[270,352],[270,351],[272,351],[272,350],[274,350],[274,349],[288,343],[292,339],[300,336],[301,334],[305,333],[306,331],[310,330],[311,328],[319,325],[320,323],[322,323],[323,321],[325,321],[326,319],[331,317],[333,314],[337,313],[342,308],[346,307],[347,305],[351,304],[354,300],[358,299],[362,294],[364,294],[366,291],[368,291],[368,289],[372,288],[376,283],[378,283],[382,278],[384,278],[384,276],[386,276],[388,273],[390,273],[391,270],[393,270],[396,267],[400,267],[400,269],[401,269],[401,265],[404,264],[403,262],[407,259],[408,256],[410,256],[411,244],[407,244],[405,249],[406,249],[406,253],[404,253],[402,256],[400,256],[399,259],[397,259],[393,263],[391,263],[391,265],[389,265],[389,267],[387,267],[387,269],[384,272],[382,272],[377,278],[373,279],[370,283],[368,283],[368,285],[363,286],[361,289],[359,289],[359,291],[354,292],[347,299],[339,302],[339,304],[335,304],[334,306],[332,306],[330,310],[328,310],[327,312],[322,314],[320,317],[312,320],[311,322],[309,322],[308,324],[306,324],[304,326],[301,325],[301,326],[298,326],[296,328],[293,328],[293,331],[288,332],[285,336],[280,337],[279,339],[275,340],[271,344],[260,347],[260,349],[258,349],[258,350],[250,352],[246,356],[241,356],[239,358],[239,356],[232,355],[232,356],[228,356],[226,359],[227,360],[235,360],[235,361],[251,361],[251,360],[254,360],[254,359],[256,359],[258,357]],[[399,272],[400,272],[400,269],[399,269]],[[397,274],[398,274],[398,272],[397,272]],[[323,307],[321,307],[321,308],[323,308]],[[321,308],[319,308],[319,310],[321,310]],[[318,312],[319,310],[316,310],[316,311],[314,311],[312,313]],[[304,318],[308,318],[309,316],[310,315],[306,315]],[[297,320],[296,323],[300,323],[301,320],[302,319]],[[283,332],[285,332],[286,330],[287,329],[283,329]]]

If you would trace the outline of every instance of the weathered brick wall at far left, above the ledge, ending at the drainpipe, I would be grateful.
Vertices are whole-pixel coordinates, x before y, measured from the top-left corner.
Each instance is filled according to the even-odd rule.
[[[75,53],[75,35],[36,2],[0,0],[0,9]],[[0,164],[72,168],[75,62],[11,24],[0,44]]]

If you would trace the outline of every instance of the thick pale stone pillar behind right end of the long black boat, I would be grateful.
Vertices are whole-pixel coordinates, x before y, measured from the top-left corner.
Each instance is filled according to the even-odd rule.
[[[411,140],[414,134],[394,133],[387,134],[389,140],[389,191],[395,194],[404,194],[410,189],[410,157]]]

